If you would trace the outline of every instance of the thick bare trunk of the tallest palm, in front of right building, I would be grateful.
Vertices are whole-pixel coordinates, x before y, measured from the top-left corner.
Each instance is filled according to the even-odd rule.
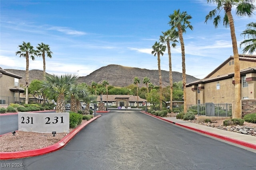
[[[239,65],[239,55],[234,27],[234,20],[230,10],[226,11],[228,16],[228,22],[230,26],[230,34],[232,39],[233,53],[234,53],[234,79],[235,79],[235,103],[234,103],[234,111],[232,118],[242,118],[242,104],[241,104],[241,85],[240,85],[240,65]]]

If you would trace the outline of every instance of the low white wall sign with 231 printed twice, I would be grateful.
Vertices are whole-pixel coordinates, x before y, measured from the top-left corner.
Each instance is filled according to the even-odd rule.
[[[69,133],[69,113],[18,113],[19,131]]]

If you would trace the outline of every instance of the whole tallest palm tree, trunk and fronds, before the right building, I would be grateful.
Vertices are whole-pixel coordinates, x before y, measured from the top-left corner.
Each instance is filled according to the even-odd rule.
[[[217,4],[217,7],[210,11],[205,17],[205,23],[208,20],[213,19],[214,27],[217,28],[220,23],[220,11],[224,9],[223,25],[225,27],[230,27],[230,34],[232,39],[232,47],[234,54],[234,79],[235,79],[235,102],[234,102],[234,114],[232,118],[242,118],[242,104],[241,104],[241,86],[240,86],[240,65],[239,65],[239,55],[238,47],[236,41],[236,33],[234,20],[231,13],[232,6],[236,6],[237,16],[249,16],[253,14],[255,6],[252,4],[255,0],[207,0],[208,3]]]

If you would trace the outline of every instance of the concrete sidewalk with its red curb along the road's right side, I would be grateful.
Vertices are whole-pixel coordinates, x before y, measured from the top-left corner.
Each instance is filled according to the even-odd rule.
[[[199,125],[197,123],[191,123],[188,121],[176,119],[176,117],[158,117],[150,113],[146,113],[145,111],[142,111],[142,112],[149,116],[155,117],[157,119],[161,119],[163,121],[167,121],[169,123],[173,123],[175,125],[178,125],[190,130],[193,130],[199,133],[204,133],[205,135],[216,137],[218,139],[222,139],[231,143],[236,143],[238,145],[242,145],[244,147],[248,147],[256,150],[256,137],[254,136],[244,135],[241,133],[235,133],[231,131],[225,131],[225,130],[217,129],[214,127]]]

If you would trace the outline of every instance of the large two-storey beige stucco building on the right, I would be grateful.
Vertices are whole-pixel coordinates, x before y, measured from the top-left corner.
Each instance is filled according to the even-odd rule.
[[[241,102],[252,101],[251,112],[256,112],[256,55],[239,55]],[[208,76],[186,84],[187,104],[232,104],[235,97],[234,57],[230,56]],[[248,103],[248,102],[246,102]],[[249,102],[251,103],[251,102]],[[234,108],[234,107],[233,107]]]

